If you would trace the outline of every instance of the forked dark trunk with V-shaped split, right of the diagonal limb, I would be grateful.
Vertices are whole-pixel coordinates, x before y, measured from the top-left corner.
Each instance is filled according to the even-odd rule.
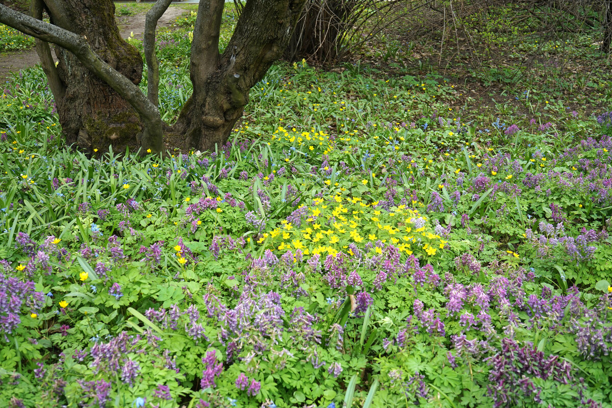
[[[193,94],[172,128],[185,148],[214,150],[227,141],[248,90],[285,50],[305,0],[249,0],[230,43],[218,53],[223,0],[200,3],[191,56]],[[216,34],[215,34],[216,33]]]

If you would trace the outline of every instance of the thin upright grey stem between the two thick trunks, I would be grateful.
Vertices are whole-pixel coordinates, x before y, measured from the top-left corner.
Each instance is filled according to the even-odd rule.
[[[159,106],[159,61],[155,55],[155,28],[172,0],[157,0],[144,21],[144,59],[147,62],[147,97]]]

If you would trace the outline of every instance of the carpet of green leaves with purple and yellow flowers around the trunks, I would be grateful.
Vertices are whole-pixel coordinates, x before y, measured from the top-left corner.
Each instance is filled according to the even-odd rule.
[[[282,63],[214,152],[90,157],[43,78],[0,100],[2,406],[612,406],[605,92]]]

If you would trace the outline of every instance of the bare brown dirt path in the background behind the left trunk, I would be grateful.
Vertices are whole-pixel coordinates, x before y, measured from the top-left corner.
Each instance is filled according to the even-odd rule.
[[[163,14],[162,18],[159,19],[157,26],[170,26],[177,17],[187,12],[188,10],[182,7],[170,6]],[[119,32],[121,32],[121,37],[127,38],[130,36],[130,33],[133,32],[134,37],[142,39],[145,14],[146,13],[143,12],[132,16],[117,17],[117,24],[119,26]],[[53,53],[53,56],[55,56],[55,53]],[[39,63],[40,59],[33,48],[28,51],[14,51],[0,56],[0,83],[4,83],[4,81],[9,79],[11,72],[18,72],[24,68],[34,67],[34,65]]]

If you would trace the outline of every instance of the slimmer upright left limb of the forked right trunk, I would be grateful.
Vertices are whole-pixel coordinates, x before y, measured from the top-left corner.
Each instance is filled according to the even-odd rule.
[[[225,0],[200,1],[193,28],[191,80],[194,87],[203,86],[219,61],[219,31]]]

